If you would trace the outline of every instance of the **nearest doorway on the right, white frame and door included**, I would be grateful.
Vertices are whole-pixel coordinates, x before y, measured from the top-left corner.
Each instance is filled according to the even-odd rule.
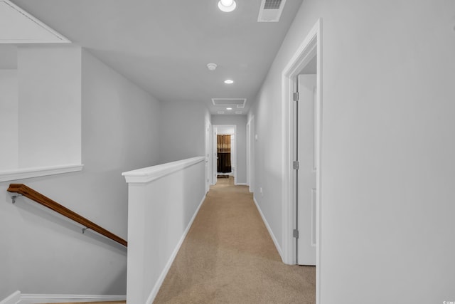
[[[320,303],[320,282],[321,282],[321,117],[322,117],[322,52],[321,52],[321,25],[322,21],[319,19],[316,21],[316,24],[311,28],[309,34],[301,42],[301,45],[297,49],[294,56],[291,57],[289,63],[283,70],[282,73],[282,85],[283,85],[283,96],[282,96],[282,113],[283,113],[283,261],[284,263],[296,264],[299,263],[299,241],[303,242],[304,240],[300,239],[302,236],[302,229],[304,229],[303,234],[309,236],[311,240],[311,246],[313,246],[316,251],[316,303]],[[314,68],[316,68],[314,70]],[[313,70],[312,70],[313,69]],[[312,70],[312,71],[310,71]],[[310,118],[301,119],[299,126],[299,105],[301,108],[306,108],[309,106],[303,100],[299,100],[299,96],[294,94],[296,93],[296,88],[299,86],[299,75],[308,74],[316,80],[316,85],[314,85],[314,91],[310,92],[307,95],[312,96],[312,98],[304,98],[307,101],[310,100],[310,104],[314,103],[314,109],[306,109],[305,113],[311,113],[311,119],[314,119],[314,122],[311,122]],[[311,101],[313,100],[313,101]],[[305,130],[303,122],[312,125],[311,132]],[[308,125],[306,126],[308,127]],[[301,134],[299,135],[299,132]],[[305,135],[306,134],[306,135]],[[312,134],[312,135],[311,135]],[[304,138],[299,138],[299,136],[304,136]],[[299,155],[299,144],[303,143],[302,140],[308,141],[306,144],[306,157],[311,159],[311,166],[303,164],[304,169],[300,171],[301,164],[301,155]],[[300,141],[300,142],[299,142]],[[311,152],[309,152],[311,151]],[[300,156],[300,159],[299,159]],[[304,160],[306,162],[306,160]],[[304,179],[302,174],[308,173],[313,175],[311,177],[311,184],[307,182],[302,188],[299,184],[299,178]],[[314,175],[316,177],[314,178]],[[299,201],[299,192],[300,196],[306,196],[307,209],[305,210],[301,206],[301,201]],[[304,194],[304,195],[302,195]],[[310,199],[308,199],[310,198]],[[309,219],[302,218],[301,214],[299,215],[299,204],[301,211],[306,215],[311,216]],[[309,209],[308,209],[309,208]],[[308,239],[308,238],[306,238]],[[302,249],[301,249],[302,250]]]

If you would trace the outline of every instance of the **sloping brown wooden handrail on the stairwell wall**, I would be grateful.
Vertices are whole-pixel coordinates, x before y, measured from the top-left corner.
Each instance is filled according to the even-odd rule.
[[[22,194],[23,196],[26,196],[28,199],[32,199],[33,201],[36,201],[38,204],[46,206],[49,209],[52,209],[53,211],[58,212],[59,214],[62,214],[63,216],[66,216],[69,219],[72,219],[73,221],[76,221],[77,223],[84,225],[85,227],[87,227],[87,229],[92,229],[93,231],[96,231],[97,233],[102,234],[103,236],[106,236],[107,238],[112,239],[113,241],[121,243],[125,247],[128,246],[127,241],[125,241],[124,239],[120,238],[119,236],[116,236],[115,234],[112,234],[112,232],[107,231],[106,229],[102,228],[101,226],[98,226],[92,221],[85,219],[85,217],[80,216],[79,214],[75,213],[75,211],[72,211],[66,208],[65,206],[58,204],[58,202],[49,199],[48,197],[44,196],[39,192],[36,192],[30,187],[27,187],[25,184],[10,184],[8,192]]]

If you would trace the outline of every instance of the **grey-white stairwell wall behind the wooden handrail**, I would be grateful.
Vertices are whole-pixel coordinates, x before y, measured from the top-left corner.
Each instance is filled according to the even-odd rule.
[[[157,100],[82,51],[84,169],[15,182],[126,239],[127,185],[121,173],[158,162],[158,121]],[[8,185],[0,183],[0,298],[15,290],[126,293],[127,252],[122,246],[90,231],[81,234],[78,226],[33,202],[11,204]]]

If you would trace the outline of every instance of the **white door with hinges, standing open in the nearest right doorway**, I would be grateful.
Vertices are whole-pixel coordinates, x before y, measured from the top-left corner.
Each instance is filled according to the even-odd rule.
[[[316,265],[316,75],[298,76],[297,263]]]

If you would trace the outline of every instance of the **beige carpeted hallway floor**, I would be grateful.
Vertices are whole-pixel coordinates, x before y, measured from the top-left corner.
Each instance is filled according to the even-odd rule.
[[[248,187],[218,179],[154,303],[316,303],[315,270],[282,263]]]

